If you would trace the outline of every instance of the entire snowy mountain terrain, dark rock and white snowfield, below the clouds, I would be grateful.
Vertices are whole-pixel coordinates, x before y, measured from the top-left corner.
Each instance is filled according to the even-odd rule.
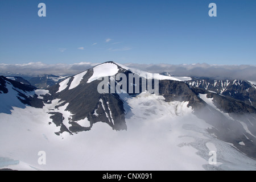
[[[51,158],[44,169],[256,169],[256,88],[248,81],[114,62],[46,90],[0,78],[2,158],[40,168],[27,153],[44,150]],[[208,163],[210,151],[217,164]]]

